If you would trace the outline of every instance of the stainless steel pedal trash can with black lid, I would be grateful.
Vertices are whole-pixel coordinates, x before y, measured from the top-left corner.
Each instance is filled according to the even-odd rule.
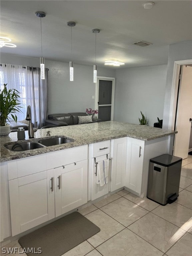
[[[179,196],[182,158],[164,154],[150,159],[147,198],[161,204]]]

